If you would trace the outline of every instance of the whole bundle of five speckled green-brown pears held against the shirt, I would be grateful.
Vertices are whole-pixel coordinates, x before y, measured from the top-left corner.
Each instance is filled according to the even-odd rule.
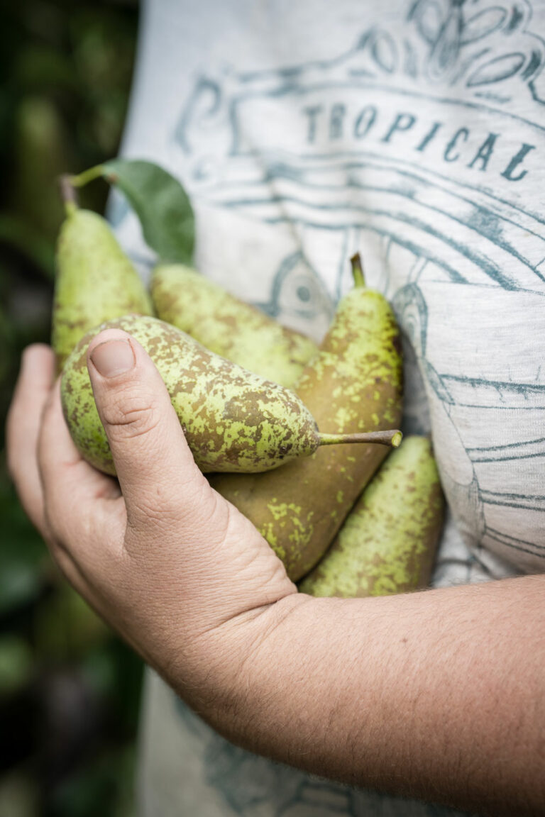
[[[87,346],[121,328],[159,368],[212,487],[315,596],[426,587],[443,522],[430,440],[397,431],[395,316],[365,286],[359,256],[352,270],[316,346],[185,264],[159,264],[150,297],[107,222],[74,201],[58,243],[52,344],[78,450],[115,474]]]

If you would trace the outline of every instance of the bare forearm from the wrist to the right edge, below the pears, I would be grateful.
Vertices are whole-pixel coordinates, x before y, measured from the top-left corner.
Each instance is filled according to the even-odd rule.
[[[545,803],[543,576],[365,600],[289,596],[247,631],[235,743],[483,813]]]

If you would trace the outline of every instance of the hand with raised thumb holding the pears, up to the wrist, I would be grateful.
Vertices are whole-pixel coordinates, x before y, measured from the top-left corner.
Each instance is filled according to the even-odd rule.
[[[69,582],[179,694],[200,710],[228,707],[248,651],[280,614],[274,603],[296,588],[194,464],[140,344],[106,330],[87,365],[118,480],[81,458],[53,354],[31,346],[7,420],[21,502]]]

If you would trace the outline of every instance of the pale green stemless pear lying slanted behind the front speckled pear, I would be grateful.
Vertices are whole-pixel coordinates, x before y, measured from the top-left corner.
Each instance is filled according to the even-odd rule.
[[[281,386],[293,386],[318,351],[309,337],[281,326],[181,264],[155,268],[151,297],[160,319]]]

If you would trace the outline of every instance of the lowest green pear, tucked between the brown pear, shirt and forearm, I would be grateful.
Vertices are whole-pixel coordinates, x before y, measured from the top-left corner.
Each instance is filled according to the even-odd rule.
[[[444,518],[426,437],[405,437],[373,477],[333,545],[303,579],[310,596],[390,596],[427,587]]]

